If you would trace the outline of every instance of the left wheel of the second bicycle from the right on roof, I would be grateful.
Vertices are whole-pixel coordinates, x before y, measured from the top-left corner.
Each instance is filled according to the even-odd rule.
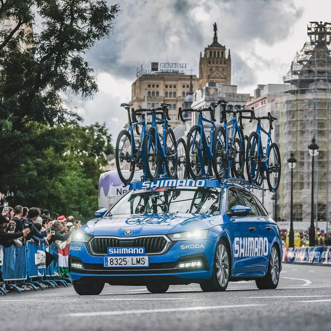
[[[213,169],[218,180],[222,180],[226,174],[226,145],[223,126],[218,125],[213,137]]]

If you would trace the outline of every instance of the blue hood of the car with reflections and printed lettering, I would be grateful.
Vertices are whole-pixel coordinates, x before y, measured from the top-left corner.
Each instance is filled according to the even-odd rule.
[[[143,214],[113,215],[87,222],[86,233],[95,236],[135,237],[158,235],[181,231],[209,229],[222,223],[221,215],[209,214]],[[124,234],[126,230],[132,233]]]

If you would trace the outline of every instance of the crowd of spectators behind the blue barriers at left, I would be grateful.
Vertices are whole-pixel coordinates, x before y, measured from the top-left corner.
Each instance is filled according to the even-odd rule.
[[[0,193],[0,201],[1,198]],[[25,241],[34,242],[38,250],[41,247],[46,247],[46,267],[54,260],[54,265],[58,265],[55,275],[60,278],[69,277],[69,246],[73,232],[81,226],[80,221],[75,220],[73,216],[66,218],[64,215],[57,213],[54,213],[51,217],[49,210],[46,209],[27,208],[20,205],[12,208],[6,203],[0,207],[0,212],[0,250],[1,245],[3,247],[12,245],[21,247]],[[58,253],[50,254],[48,252],[47,247],[51,244],[58,249]],[[28,285],[22,284],[20,282],[16,283],[21,291],[31,289]],[[1,265],[0,286],[8,292],[2,277]],[[45,285],[42,284],[42,286]]]

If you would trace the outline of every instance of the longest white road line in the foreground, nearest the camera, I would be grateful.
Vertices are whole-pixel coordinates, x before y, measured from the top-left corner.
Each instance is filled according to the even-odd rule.
[[[140,310],[119,310],[119,311],[87,311],[75,312],[65,314],[68,317],[90,317],[90,316],[105,316],[105,315],[123,315],[123,314],[144,314],[153,312],[174,312],[174,311],[195,311],[195,310],[209,310],[209,309],[222,309],[222,308],[240,308],[240,307],[258,307],[266,306],[265,304],[252,304],[252,305],[223,305],[223,306],[205,306],[205,307],[178,307],[178,308],[161,308],[161,309],[140,309]]]

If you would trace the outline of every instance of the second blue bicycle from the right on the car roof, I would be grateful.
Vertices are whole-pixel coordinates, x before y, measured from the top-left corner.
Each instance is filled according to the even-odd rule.
[[[231,168],[233,177],[243,178],[245,166],[245,138],[243,133],[242,118],[249,118],[250,122],[254,118],[254,108],[226,110],[225,100],[219,100],[223,110],[221,111],[221,123],[215,130],[213,139],[213,169],[218,180],[222,180],[226,175],[229,176]],[[226,114],[232,113],[232,118],[227,121]],[[250,117],[243,116],[243,113],[250,113]],[[239,118],[237,117],[239,114]],[[229,136],[228,125],[232,124],[231,136]]]

